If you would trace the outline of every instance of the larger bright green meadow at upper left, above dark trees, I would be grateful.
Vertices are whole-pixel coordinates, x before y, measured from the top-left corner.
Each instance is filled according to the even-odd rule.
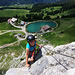
[[[0,10],[0,17],[13,17],[15,15],[22,16],[28,14],[28,11],[29,10],[24,9],[4,9]]]

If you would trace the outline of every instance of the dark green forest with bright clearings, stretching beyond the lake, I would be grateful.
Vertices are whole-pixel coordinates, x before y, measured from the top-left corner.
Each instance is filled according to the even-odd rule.
[[[55,7],[60,7],[59,10],[55,10]],[[46,8],[49,11],[46,11]],[[0,10],[4,10],[4,9],[24,9],[24,10],[30,10],[28,14],[25,15],[15,15],[13,17],[19,18],[21,20],[24,21],[34,21],[34,20],[49,20],[52,19],[51,16],[56,16],[54,19],[56,18],[60,18],[60,16],[58,14],[61,14],[61,18],[66,18],[66,17],[75,17],[75,2],[70,2],[70,3],[54,3],[54,4],[45,4],[45,3],[37,3],[34,4],[32,8],[28,8],[28,7],[2,7],[0,8]],[[45,9],[45,11],[44,11]],[[69,12],[69,14],[65,15],[65,12]],[[7,21],[8,18],[11,17],[0,17],[0,22],[4,22]]]

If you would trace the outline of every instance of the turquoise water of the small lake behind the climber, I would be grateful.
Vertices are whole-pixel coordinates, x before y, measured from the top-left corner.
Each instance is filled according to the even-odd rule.
[[[34,33],[40,31],[40,28],[44,25],[49,25],[51,27],[55,27],[56,24],[54,22],[35,22],[31,23],[27,26],[27,32]]]

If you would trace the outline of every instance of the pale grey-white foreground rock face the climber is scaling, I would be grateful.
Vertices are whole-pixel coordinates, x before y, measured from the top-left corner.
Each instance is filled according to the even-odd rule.
[[[5,75],[75,75],[75,42],[55,48],[51,45],[44,47],[41,50],[42,57],[30,69],[25,67],[24,60],[19,68],[11,68]],[[49,53],[51,50],[55,53],[46,55],[47,49]]]

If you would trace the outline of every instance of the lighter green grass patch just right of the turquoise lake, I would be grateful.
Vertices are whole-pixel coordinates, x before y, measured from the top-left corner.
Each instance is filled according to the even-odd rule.
[[[64,31],[65,29],[75,25],[75,18],[56,19],[55,21],[58,23],[58,27],[55,29],[55,32]]]

